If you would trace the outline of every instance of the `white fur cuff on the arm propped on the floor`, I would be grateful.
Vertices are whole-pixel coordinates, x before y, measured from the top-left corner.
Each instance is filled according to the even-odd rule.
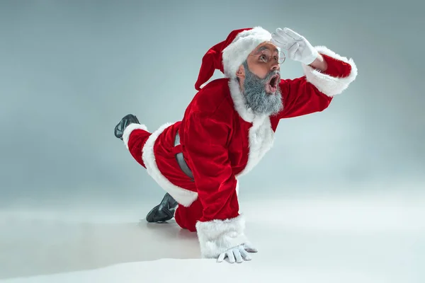
[[[220,253],[248,242],[244,235],[245,219],[241,214],[233,219],[196,223],[196,232],[203,258],[218,258]]]

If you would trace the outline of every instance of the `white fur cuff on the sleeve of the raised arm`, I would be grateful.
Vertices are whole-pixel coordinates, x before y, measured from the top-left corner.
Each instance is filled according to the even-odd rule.
[[[348,88],[348,85],[356,79],[356,64],[354,64],[353,59],[347,59],[346,57],[342,57],[341,55],[329,50],[327,47],[317,46],[315,48],[319,53],[325,54],[329,57],[333,57],[335,59],[339,59],[343,62],[350,64],[351,73],[345,78],[336,78],[334,76],[323,74],[322,72],[308,65],[302,64],[302,69],[304,70],[307,81],[312,83],[314,86],[317,87],[319,91],[326,94],[327,96],[333,97],[339,93],[342,93],[346,88]]]

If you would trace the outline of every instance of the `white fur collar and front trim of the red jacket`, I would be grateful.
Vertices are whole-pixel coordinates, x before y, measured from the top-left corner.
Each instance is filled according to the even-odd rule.
[[[270,117],[267,115],[256,115],[251,109],[246,108],[245,99],[242,95],[239,83],[229,80],[230,95],[234,108],[246,122],[251,122],[249,129],[249,156],[244,170],[237,176],[242,176],[251,171],[261,161],[263,156],[273,147],[274,132],[271,129]]]

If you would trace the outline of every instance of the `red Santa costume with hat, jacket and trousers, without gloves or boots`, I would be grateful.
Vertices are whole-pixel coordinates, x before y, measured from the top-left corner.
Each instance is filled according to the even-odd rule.
[[[198,93],[182,120],[150,132],[138,121],[123,129],[130,154],[179,203],[176,223],[198,234],[203,258],[249,245],[244,215],[239,214],[238,179],[271,149],[280,119],[326,109],[357,76],[352,59],[314,47],[327,70],[302,63],[304,76],[280,79],[283,109],[277,115],[258,115],[246,106],[235,73],[250,52],[271,40],[272,34],[261,27],[232,31],[203,57]],[[225,78],[200,88],[216,69]]]

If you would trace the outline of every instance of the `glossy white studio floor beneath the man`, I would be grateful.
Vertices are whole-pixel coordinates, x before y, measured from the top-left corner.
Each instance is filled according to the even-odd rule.
[[[150,209],[0,212],[0,282],[425,282],[425,198],[408,194],[245,201],[259,253],[201,260],[195,233]]]

